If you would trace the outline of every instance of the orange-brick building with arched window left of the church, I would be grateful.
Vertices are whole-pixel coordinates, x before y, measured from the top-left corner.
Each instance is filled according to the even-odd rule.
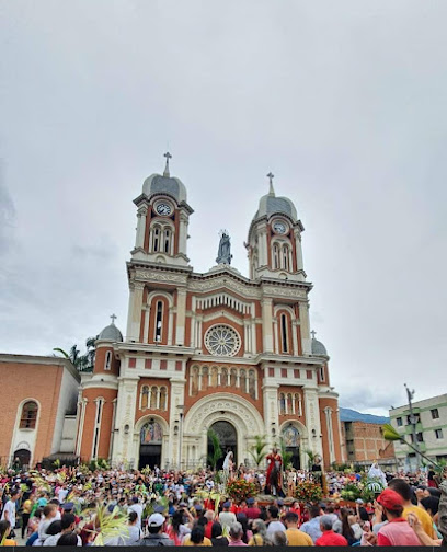
[[[74,450],[80,380],[65,358],[0,354],[2,465]]]

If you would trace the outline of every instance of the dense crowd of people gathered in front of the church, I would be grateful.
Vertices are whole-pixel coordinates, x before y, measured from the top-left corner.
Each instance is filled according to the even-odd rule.
[[[263,482],[255,470],[232,478]],[[295,472],[299,486],[312,472]],[[217,493],[211,470],[176,472],[80,467],[5,471],[0,480],[2,545],[442,545],[447,544],[447,472],[388,474],[376,499],[336,496],[359,474],[325,474],[322,502],[283,493],[237,503]],[[267,478],[268,480],[268,478]]]

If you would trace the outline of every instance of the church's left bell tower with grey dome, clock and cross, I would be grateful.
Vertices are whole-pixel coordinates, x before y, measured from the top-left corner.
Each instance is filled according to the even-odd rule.
[[[137,206],[137,234],[133,261],[187,266],[187,227],[193,209],[186,203],[186,188],[171,176],[171,153],[164,153],[163,174],[151,174],[142,193],[134,199]]]

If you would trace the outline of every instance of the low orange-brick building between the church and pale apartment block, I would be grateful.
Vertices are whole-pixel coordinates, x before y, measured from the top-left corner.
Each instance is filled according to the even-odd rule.
[[[396,464],[394,446],[383,439],[382,424],[342,422],[342,435],[348,463],[369,465],[377,460],[382,467]]]

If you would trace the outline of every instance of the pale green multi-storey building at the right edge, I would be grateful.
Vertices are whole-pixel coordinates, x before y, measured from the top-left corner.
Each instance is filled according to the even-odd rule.
[[[413,414],[417,421],[416,444],[421,452],[433,460],[447,460],[447,394],[413,403]],[[391,425],[413,444],[410,407],[404,405],[390,410],[390,418]],[[394,449],[401,465],[406,469],[415,467],[416,453],[410,447],[396,441]]]

